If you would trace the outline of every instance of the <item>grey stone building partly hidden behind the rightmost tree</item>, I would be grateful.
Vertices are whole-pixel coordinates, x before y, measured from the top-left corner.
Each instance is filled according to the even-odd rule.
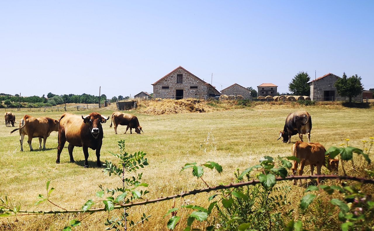
[[[308,83],[310,86],[310,99],[313,101],[347,100],[348,98],[342,98],[340,95],[338,95],[336,87],[334,87],[335,82],[339,78],[339,76],[328,73],[322,77],[310,81]],[[362,93],[353,99],[361,100]]]

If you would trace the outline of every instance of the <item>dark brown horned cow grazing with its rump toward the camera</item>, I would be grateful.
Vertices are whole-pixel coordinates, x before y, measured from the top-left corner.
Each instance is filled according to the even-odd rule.
[[[312,117],[307,111],[296,111],[289,113],[286,118],[283,131],[279,133],[279,138],[283,137],[283,142],[291,142],[291,136],[299,134],[300,140],[303,141],[303,134],[308,136],[310,142],[310,130],[312,130]],[[278,140],[277,139],[277,140]]]

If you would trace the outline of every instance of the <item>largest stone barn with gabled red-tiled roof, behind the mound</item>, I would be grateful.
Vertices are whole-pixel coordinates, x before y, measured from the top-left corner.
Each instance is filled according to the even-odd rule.
[[[201,80],[181,66],[175,68],[152,85],[153,97],[155,98],[183,99],[221,95],[214,86]]]

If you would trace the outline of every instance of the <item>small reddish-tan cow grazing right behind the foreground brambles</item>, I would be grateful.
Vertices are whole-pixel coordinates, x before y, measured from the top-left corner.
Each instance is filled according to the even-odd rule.
[[[338,170],[339,160],[325,156],[326,149],[320,143],[296,141],[296,143],[292,145],[291,150],[292,155],[300,159],[300,167],[298,169],[299,176],[303,175],[304,166],[308,164],[310,165],[310,175],[313,175],[314,166],[317,166],[317,175],[321,175],[322,165],[327,167],[330,172]],[[298,163],[294,160],[292,164],[292,173],[294,176],[296,175],[297,166]],[[294,184],[296,184],[296,182],[297,180],[294,180]],[[301,185],[301,179],[299,185]]]

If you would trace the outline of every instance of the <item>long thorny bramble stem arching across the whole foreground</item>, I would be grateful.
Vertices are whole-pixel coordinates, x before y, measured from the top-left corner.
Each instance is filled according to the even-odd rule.
[[[336,176],[336,175],[313,175],[313,176],[286,176],[285,178],[275,178],[276,181],[290,181],[290,180],[298,180],[298,179],[338,179],[338,180],[350,180],[350,181],[358,181],[363,184],[374,184],[373,179],[366,179],[366,178],[359,178],[355,176]],[[118,206],[114,206],[114,209],[122,209],[122,208],[129,208],[133,206],[138,206],[138,205],[144,205],[144,204],[151,204],[151,203],[156,203],[160,201],[165,201],[165,200],[172,200],[178,197],[186,197],[188,195],[196,195],[201,192],[211,192],[211,191],[216,191],[216,190],[221,190],[221,189],[227,189],[227,188],[239,188],[243,187],[246,185],[256,185],[260,184],[261,182],[259,180],[252,180],[252,181],[245,181],[245,182],[239,182],[235,184],[229,184],[229,185],[218,185],[214,187],[208,187],[208,188],[201,188],[197,190],[192,190],[192,191],[187,191],[187,192],[182,192],[180,194],[176,195],[170,195],[167,197],[162,197],[162,198],[157,198],[157,199],[152,199],[152,200],[145,200],[145,201],[139,201],[139,202],[134,202],[134,203],[128,203],[128,204],[121,204]],[[13,212],[11,209],[0,209],[2,212]],[[31,211],[31,210],[19,210],[18,213],[29,213],[29,215],[41,215],[41,214],[59,214],[59,213],[94,213],[94,212],[101,212],[101,211],[106,211],[105,207],[102,208],[97,208],[97,209],[89,209],[89,210],[64,210],[64,211]],[[16,216],[21,215],[21,214],[16,214]]]

